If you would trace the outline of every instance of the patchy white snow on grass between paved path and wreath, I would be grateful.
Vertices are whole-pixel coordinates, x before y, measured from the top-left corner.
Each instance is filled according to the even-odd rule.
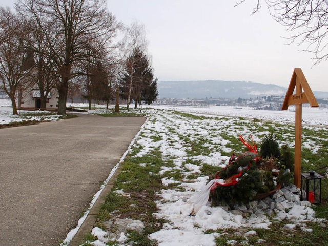
[[[157,218],[167,222],[160,231],[149,235],[156,240],[158,245],[215,245],[218,233],[207,234],[207,230],[216,231],[222,228],[264,228],[268,229],[271,220],[265,215],[243,218],[234,215],[222,207],[211,207],[210,203],[200,206],[195,216],[190,216],[193,204],[188,202],[195,194],[201,194],[206,186],[207,177],[199,177],[195,180],[187,179],[191,173],[200,173],[202,165],[224,166],[229,156],[223,153],[232,152],[231,141],[221,136],[237,138],[239,135],[254,135],[258,140],[267,133],[262,131],[256,134],[251,119],[236,119],[233,117],[202,117],[194,118],[184,116],[172,111],[145,110],[149,117],[144,130],[136,140],[136,146],[140,151],[135,156],[150,154],[157,149],[166,160],[173,161],[174,167],[163,167],[161,175],[172,170],[180,170],[184,175],[183,182],[174,178],[162,178],[163,185],[176,183],[175,189],[158,191],[160,200],[156,201],[158,212],[153,214]],[[258,122],[257,127],[262,123]],[[283,127],[286,130],[289,126]],[[215,129],[215,130],[213,130]],[[255,133],[255,134],[254,134]],[[208,154],[199,154],[193,151],[193,143],[199,144],[206,139],[202,152],[208,150]],[[240,143],[241,144],[241,143]],[[309,139],[306,144],[312,145]],[[192,163],[190,163],[192,162]],[[184,188],[184,191],[181,191]],[[206,197],[208,198],[208,196]],[[280,212],[277,219],[290,219],[294,222],[316,220],[314,211],[306,206],[294,206],[288,212]]]

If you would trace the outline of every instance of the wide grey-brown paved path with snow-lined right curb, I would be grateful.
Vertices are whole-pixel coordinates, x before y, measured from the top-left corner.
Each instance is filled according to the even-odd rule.
[[[58,245],[144,117],[77,118],[0,129],[0,245]]]

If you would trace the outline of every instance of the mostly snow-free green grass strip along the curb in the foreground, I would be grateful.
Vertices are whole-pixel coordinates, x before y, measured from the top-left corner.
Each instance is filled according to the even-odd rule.
[[[114,211],[119,211],[125,218],[140,220],[145,225],[142,232],[128,230],[128,242],[133,242],[133,245],[155,245],[148,235],[160,230],[165,222],[152,216],[157,212],[155,201],[159,198],[156,193],[166,188],[161,183],[161,176],[156,175],[165,163],[160,152],[154,150],[151,155],[127,157],[121,165],[122,171],[101,207],[97,223],[104,224],[113,218]],[[116,193],[121,189],[129,194],[128,198]]]

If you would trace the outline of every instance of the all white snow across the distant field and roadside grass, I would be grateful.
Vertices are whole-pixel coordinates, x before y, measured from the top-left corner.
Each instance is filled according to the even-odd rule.
[[[73,107],[80,107],[80,104],[73,104]],[[83,105],[86,107],[86,104]],[[97,106],[98,107],[98,106]],[[161,109],[161,110],[158,110]],[[173,169],[180,170],[185,177],[183,181],[177,181],[173,178],[163,178],[163,185],[169,183],[178,183],[181,189],[168,189],[158,191],[161,200],[157,202],[158,213],[154,214],[157,218],[164,218],[170,222],[153,234],[150,238],[157,240],[160,246],[175,246],[175,245],[215,245],[215,237],[219,237],[218,233],[206,234],[206,230],[216,230],[218,228],[245,228],[245,233],[250,235],[256,234],[252,228],[268,228],[271,224],[267,216],[259,216],[257,218],[247,219],[241,215],[234,215],[221,207],[211,207],[210,204],[204,204],[199,208],[196,216],[188,216],[191,212],[193,204],[186,201],[192,196],[201,194],[205,187],[207,177],[199,177],[195,180],[188,180],[187,176],[193,173],[200,173],[200,168],[203,164],[213,166],[226,165],[230,156],[223,153],[234,151],[228,147],[229,140],[222,137],[223,134],[230,134],[238,137],[243,135],[245,139],[249,139],[251,135],[257,141],[269,131],[268,127],[263,127],[265,131],[256,132],[255,129],[240,127],[238,122],[248,122],[252,125],[254,118],[263,120],[278,121],[281,123],[294,124],[295,112],[293,108],[289,111],[263,111],[253,110],[250,108],[234,108],[224,106],[213,106],[209,108],[183,108],[183,107],[157,107],[152,106],[143,109],[148,120],[141,128],[139,134],[134,139],[134,147],[141,149],[136,156],[150,154],[154,149],[161,152],[163,159],[173,160],[174,168],[162,167],[160,174],[170,173]],[[204,115],[202,119],[193,119],[173,111],[183,111],[197,115]],[[90,111],[88,113],[106,112],[106,109]],[[19,120],[19,116],[12,117],[10,103],[6,104],[5,100],[0,100],[0,121],[10,122]],[[221,116],[226,116],[222,118]],[[227,117],[229,116],[229,117]],[[244,117],[244,119],[235,118],[232,116]],[[55,119],[56,116],[54,116]],[[327,109],[303,107],[302,119],[304,124],[312,125],[311,128],[320,128],[328,131],[328,111]],[[261,122],[257,124],[261,125]],[[293,126],[286,124],[286,129]],[[254,132],[255,131],[255,132]],[[209,155],[191,156],[188,154],[191,147],[188,142],[183,140],[183,137],[188,137],[190,141],[198,141],[200,137],[207,138],[207,148],[211,150]],[[154,140],[154,139],[160,140]],[[286,141],[293,141],[293,136],[286,136]],[[327,140],[327,139],[322,139]],[[311,149],[313,153],[320,147],[311,139],[303,137],[306,148]],[[292,143],[293,144],[293,143]],[[142,148],[140,148],[142,147]],[[187,160],[189,164],[187,164]],[[200,165],[190,164],[190,162],[198,161]],[[305,160],[306,161],[306,160]],[[145,164],[147,165],[147,163]],[[164,175],[165,176],[165,175]],[[124,194],[125,191],[119,191]],[[98,193],[97,193],[98,194]],[[97,195],[96,195],[97,196]],[[95,196],[95,199],[96,199]],[[297,197],[299,199],[299,197]],[[314,211],[307,206],[294,206],[288,212],[280,212],[277,214],[277,219],[290,219],[290,228],[293,228],[304,221],[318,220],[315,218]],[[141,222],[141,221],[136,221]],[[306,231],[305,224],[303,225]],[[308,230],[311,231],[311,230]],[[127,234],[118,235],[118,237],[110,238],[107,232],[101,231],[99,228],[93,230],[93,234],[98,236],[97,241],[92,242],[93,245],[106,245],[109,240],[116,240],[118,244],[125,245]],[[69,235],[71,237],[72,234]],[[66,242],[69,242],[67,239]]]

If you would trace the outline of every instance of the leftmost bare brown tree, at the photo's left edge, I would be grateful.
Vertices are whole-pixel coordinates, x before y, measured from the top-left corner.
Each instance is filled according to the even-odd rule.
[[[29,64],[30,53],[26,52],[25,24],[9,8],[0,7],[0,90],[9,96],[13,114],[18,114],[16,90],[33,66]]]

